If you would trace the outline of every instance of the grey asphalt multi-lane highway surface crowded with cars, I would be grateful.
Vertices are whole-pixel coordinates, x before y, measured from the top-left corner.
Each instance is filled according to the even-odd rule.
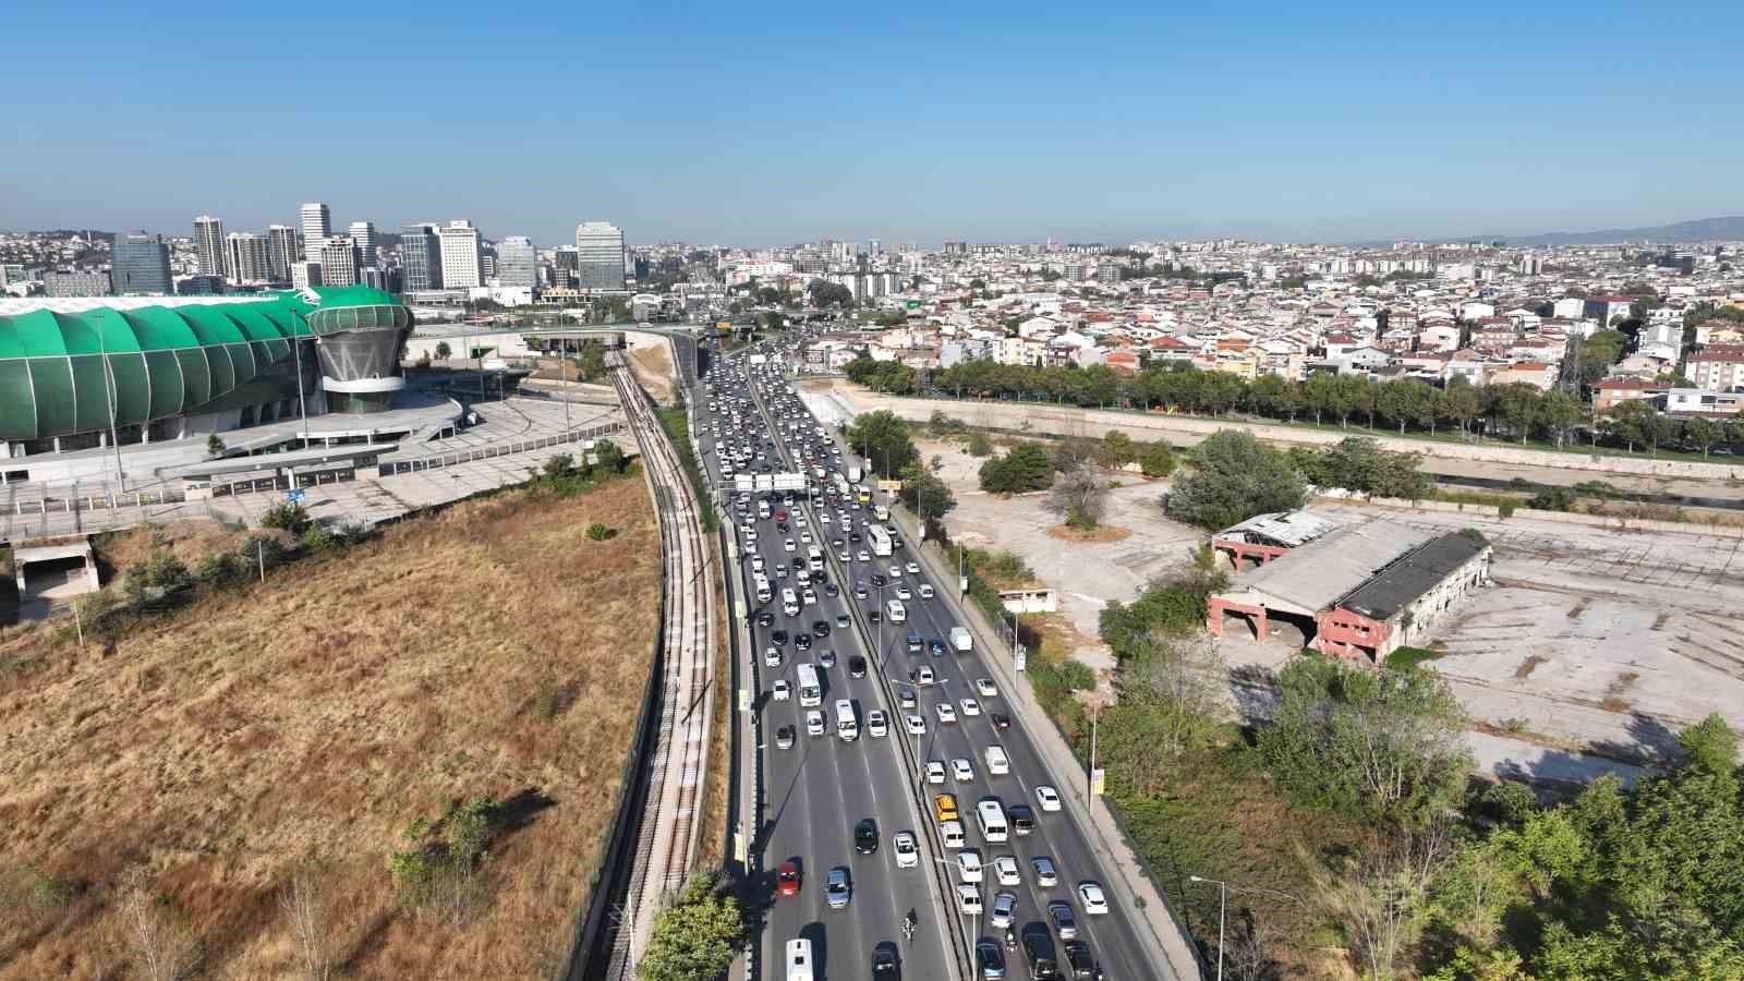
[[[778,361],[778,358],[771,358],[771,361]],[[743,365],[738,365],[738,368],[743,370]],[[729,388],[743,384],[743,379],[732,382],[726,377],[724,370],[717,370],[715,382],[715,398],[719,400],[729,394]],[[773,391],[780,393],[781,389],[776,388]],[[696,394],[701,405],[706,407],[710,396],[703,393]],[[792,412],[795,405],[797,400],[781,400],[778,410]],[[755,438],[759,440],[759,449],[764,449],[766,456],[771,457],[766,463],[771,463],[774,471],[797,470],[788,459],[787,447],[780,436],[774,436],[776,452],[760,447],[760,440],[769,438],[773,433],[774,419],[767,414],[769,405],[762,396],[757,396],[755,408],[755,419],[760,426]],[[814,433],[814,419],[804,415],[800,422],[804,431]],[[708,461],[710,477],[719,485],[722,478],[720,459],[713,454],[715,438],[715,433],[703,435],[699,445],[708,447],[703,456]],[[855,459],[842,449],[839,468],[844,470]],[[797,496],[797,501],[804,501],[802,492]],[[1018,934],[1031,925],[1046,929],[1046,902],[1066,901],[1076,913],[1080,939],[1088,943],[1104,978],[1170,978],[1167,969],[1153,964],[1149,950],[1135,932],[1137,925],[1134,918],[1128,916],[1123,906],[1130,899],[1111,888],[1111,876],[1104,875],[1099,868],[1093,850],[1083,829],[1071,815],[1071,810],[1043,812],[1038,803],[1038,785],[1055,785],[1064,792],[1067,780],[1081,780],[1083,775],[1048,773],[1015,712],[1010,714],[1013,716],[1010,728],[998,730],[994,726],[992,712],[1006,712],[1005,688],[1012,683],[1010,663],[1001,658],[998,670],[994,670],[978,649],[970,655],[924,653],[933,639],[940,639],[949,648],[950,628],[961,623],[961,614],[956,611],[954,602],[947,599],[954,593],[956,583],[933,581],[924,574],[903,571],[902,576],[891,578],[889,585],[881,592],[872,585],[874,573],[889,576],[891,560],[907,564],[910,560],[909,548],[898,546],[889,559],[872,557],[870,562],[855,559],[844,566],[835,555],[837,550],[830,545],[830,539],[841,536],[842,525],[839,522],[820,524],[818,508],[804,506],[802,510],[807,513],[809,524],[806,529],[811,532],[813,541],[820,543],[830,557],[830,581],[841,588],[842,595],[827,597],[820,590],[818,606],[802,609],[800,616],[787,618],[780,609],[780,590],[783,585],[794,585],[794,580],[774,580],[774,600],[767,606],[774,623],[771,628],[755,630],[755,648],[760,653],[769,646],[767,637],[771,630],[797,634],[799,630],[806,630],[813,620],[828,620],[834,623],[835,616],[848,613],[849,604],[853,604],[856,627],[869,632],[870,648],[877,651],[882,672],[872,670],[867,677],[860,679],[848,677],[846,665],[851,655],[860,653],[863,646],[855,637],[855,630],[841,628],[832,628],[830,635],[821,639],[809,653],[795,651],[792,646],[783,648],[781,669],[759,669],[759,686],[762,691],[755,698],[755,709],[764,714],[764,735],[769,740],[769,745],[764,747],[769,813],[764,815],[766,831],[760,840],[764,850],[762,866],[773,873],[783,861],[792,859],[802,862],[806,876],[799,897],[774,901],[764,934],[762,976],[780,976],[781,944],[795,936],[813,939],[816,948],[814,957],[821,967],[818,978],[869,978],[872,950],[881,943],[891,941],[902,951],[905,978],[952,978],[959,974],[952,962],[966,957],[977,939],[984,936],[1003,939],[1003,930],[989,929],[985,918],[963,916],[956,911],[956,897],[950,890],[959,878],[954,866],[935,864],[933,869],[898,869],[889,855],[891,834],[905,829],[914,831],[921,840],[923,862],[937,859],[956,862],[954,848],[947,854],[938,847],[938,829],[931,820],[933,794],[950,792],[956,794],[957,806],[964,817],[968,848],[977,852],[987,864],[996,855],[1013,855],[1018,862],[1018,885],[996,883],[991,869],[980,883],[982,899],[989,908],[994,894],[1015,894],[1015,929]],[[830,511],[834,518],[834,508]],[[804,557],[807,545],[800,539],[800,525],[790,525],[790,532],[780,532],[773,518],[755,520],[755,511],[752,517],[759,534],[755,545],[746,548],[746,562],[752,552],[762,555],[769,566],[776,560],[792,560],[795,555]],[[855,522],[853,531],[858,532],[865,531],[860,524],[862,518],[870,520],[869,510],[851,510],[849,517]],[[736,515],[729,513],[727,520],[736,520]],[[745,543],[743,531],[739,531],[739,541]],[[785,550],[783,541],[787,538],[794,538],[797,552],[788,553]],[[865,541],[848,545],[851,553],[869,548]],[[853,585],[856,580],[865,581],[869,587],[865,600],[853,600]],[[750,595],[748,569],[745,569],[745,581],[746,595]],[[884,600],[895,599],[896,587],[917,592],[921,583],[931,585],[938,599],[921,600],[916,595],[916,599],[907,600],[903,604],[909,611],[907,623],[867,623],[865,613],[884,609]],[[923,653],[909,653],[909,632],[923,637]],[[795,665],[804,660],[816,660],[821,649],[830,648],[837,653],[839,667],[820,672],[825,684],[821,710],[828,723],[828,735],[806,737],[802,724],[804,710],[799,707],[797,696],[795,700],[776,702],[767,691],[776,677],[795,684]],[[926,733],[903,735],[902,716],[905,712],[896,705],[893,689],[881,683],[879,674],[884,674],[889,683],[907,684],[909,672],[921,665],[930,667],[938,679],[931,686],[914,686],[919,696],[919,712],[926,717]],[[992,679],[998,695],[991,698],[978,695],[975,691],[978,679]],[[862,719],[862,738],[851,744],[844,744],[834,735],[835,719],[832,703],[835,698],[844,696],[844,693],[855,700]],[[977,716],[963,712],[963,698],[975,698],[982,712]],[[957,709],[956,721],[940,721],[937,705],[944,702]],[[889,716],[893,724],[888,738],[865,735],[863,721],[872,709],[884,709]],[[799,730],[797,745],[788,751],[773,745],[774,733],[783,724],[792,724]],[[893,745],[895,740],[907,742],[907,754],[898,752],[898,747]],[[985,768],[984,751],[994,744],[1003,745],[1010,756],[1012,768],[1008,775],[992,775]],[[940,761],[950,768],[956,759],[970,763],[973,775],[968,780],[957,782],[952,775],[947,775],[944,784],[923,784],[916,773],[926,761]],[[977,799],[989,794],[998,796],[1006,806],[1029,805],[1034,810],[1036,831],[1029,836],[1013,834],[1005,843],[984,841],[975,826],[973,808]],[[877,820],[881,831],[877,855],[855,854],[851,829],[862,817]],[[1036,857],[1046,857],[1053,862],[1059,875],[1057,885],[1041,887],[1036,882],[1031,864]],[[835,866],[848,866],[855,880],[853,902],[842,911],[825,908],[820,887],[823,873]],[[937,878],[928,875],[930,871],[937,873]],[[1111,904],[1107,915],[1085,915],[1083,902],[1076,895],[1076,885],[1083,880],[1093,880],[1102,885]],[[916,932],[912,944],[907,944],[900,937],[900,922],[910,908],[919,911],[921,929]],[[956,937],[942,937],[940,929],[956,932]],[[1055,934],[1060,976],[1073,978],[1059,939]],[[1003,943],[999,946],[1003,948]],[[1015,957],[1006,958],[1008,978],[1029,978],[1029,974],[1022,950]]]

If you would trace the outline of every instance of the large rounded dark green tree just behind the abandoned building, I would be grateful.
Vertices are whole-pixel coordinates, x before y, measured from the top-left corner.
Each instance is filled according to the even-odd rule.
[[[1177,478],[1167,497],[1168,515],[1219,531],[1268,511],[1291,511],[1308,489],[1291,459],[1252,433],[1221,429],[1196,449],[1198,471]]]

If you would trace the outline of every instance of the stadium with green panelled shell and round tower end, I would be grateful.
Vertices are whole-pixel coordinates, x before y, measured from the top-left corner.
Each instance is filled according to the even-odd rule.
[[[366,286],[0,300],[0,457],[384,412],[412,323]]]

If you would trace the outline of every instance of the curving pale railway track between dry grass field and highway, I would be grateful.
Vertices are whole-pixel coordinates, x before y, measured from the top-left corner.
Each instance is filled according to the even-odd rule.
[[[659,726],[651,749],[637,854],[602,978],[628,981],[647,948],[654,918],[691,875],[699,840],[698,806],[706,780],[715,649],[715,592],[698,501],[678,452],[654,408],[612,354],[612,386],[642,449],[661,539]]]

